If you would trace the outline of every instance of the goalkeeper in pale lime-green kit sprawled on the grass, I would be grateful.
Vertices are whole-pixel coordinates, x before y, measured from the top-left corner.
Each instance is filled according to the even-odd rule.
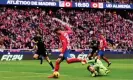
[[[99,59],[89,60],[89,65],[87,69],[92,73],[92,76],[102,76],[107,75],[109,70],[103,65]]]

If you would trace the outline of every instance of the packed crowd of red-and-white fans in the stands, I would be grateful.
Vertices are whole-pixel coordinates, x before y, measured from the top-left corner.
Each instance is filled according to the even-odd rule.
[[[58,18],[71,24],[74,33],[70,35],[72,49],[89,49],[93,34],[101,30],[107,39],[118,44],[118,49],[133,48],[133,23],[117,12],[106,10],[78,10],[46,8],[0,7],[0,37],[7,49],[31,49],[32,38],[39,31],[47,48],[61,47],[54,34],[56,27],[65,25],[52,20]],[[0,41],[1,43],[1,41]],[[0,44],[1,45],[1,44]]]

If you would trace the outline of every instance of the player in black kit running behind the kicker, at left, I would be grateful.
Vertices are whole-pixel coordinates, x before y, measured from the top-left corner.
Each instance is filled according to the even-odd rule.
[[[36,53],[34,54],[33,58],[39,59],[41,61],[40,64],[43,63],[43,58],[45,58],[47,60],[47,62],[50,64],[52,70],[54,70],[53,63],[48,57],[47,50],[46,50],[45,44],[42,40],[42,37],[39,34],[37,34],[33,38],[32,42],[34,44],[33,49],[36,50]]]

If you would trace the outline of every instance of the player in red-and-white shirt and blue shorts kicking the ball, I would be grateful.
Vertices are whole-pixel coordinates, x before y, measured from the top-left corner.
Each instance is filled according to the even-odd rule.
[[[59,37],[61,43],[62,43],[62,48],[60,49],[61,53],[59,55],[59,58],[55,62],[55,72],[59,71],[60,68],[60,63],[63,60],[66,60],[68,64],[70,63],[75,63],[75,62],[82,62],[82,63],[87,63],[86,60],[78,59],[78,58],[71,58],[70,56],[70,39],[69,39],[69,34],[72,34],[72,30],[70,27],[66,26],[67,31],[63,31],[60,28],[55,29],[55,33]],[[48,78],[53,78],[54,75],[49,76]]]

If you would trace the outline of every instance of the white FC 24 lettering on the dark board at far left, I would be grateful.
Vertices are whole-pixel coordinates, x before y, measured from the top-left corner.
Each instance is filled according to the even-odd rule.
[[[1,61],[14,61],[14,60],[22,60],[23,55],[11,55],[10,52],[8,52],[7,55],[3,55],[1,58]]]

